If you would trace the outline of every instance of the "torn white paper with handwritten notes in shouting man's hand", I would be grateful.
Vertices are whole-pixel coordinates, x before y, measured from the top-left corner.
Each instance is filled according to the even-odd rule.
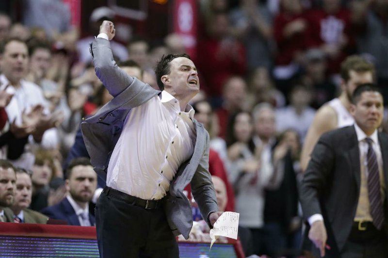
[[[217,219],[213,228],[210,229],[210,248],[218,236],[237,239],[240,213],[226,211]]]

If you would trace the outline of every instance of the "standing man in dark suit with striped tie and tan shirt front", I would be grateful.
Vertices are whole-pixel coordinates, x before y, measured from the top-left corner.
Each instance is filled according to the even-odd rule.
[[[379,89],[360,85],[350,110],[356,123],[324,133],[311,154],[300,200],[316,256],[388,256],[388,136],[377,130],[383,109]]]

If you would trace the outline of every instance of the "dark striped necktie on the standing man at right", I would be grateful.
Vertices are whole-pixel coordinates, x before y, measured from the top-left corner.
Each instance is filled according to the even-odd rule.
[[[372,147],[372,139],[366,138],[365,141],[368,143],[368,195],[369,203],[371,205],[371,215],[373,225],[380,230],[384,223],[384,210],[380,193],[379,166],[377,163],[376,153]]]

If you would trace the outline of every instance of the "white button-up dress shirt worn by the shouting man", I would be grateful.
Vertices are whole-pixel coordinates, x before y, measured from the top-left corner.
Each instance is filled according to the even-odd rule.
[[[146,200],[166,195],[178,167],[193,155],[194,109],[166,91],[131,109],[113,149],[107,186]]]

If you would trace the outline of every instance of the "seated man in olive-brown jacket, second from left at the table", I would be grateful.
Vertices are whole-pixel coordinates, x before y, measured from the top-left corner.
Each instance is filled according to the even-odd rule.
[[[22,168],[16,168],[16,194],[15,202],[11,206],[16,223],[46,224],[47,216],[35,210],[27,209],[31,204],[32,180],[31,173]]]

